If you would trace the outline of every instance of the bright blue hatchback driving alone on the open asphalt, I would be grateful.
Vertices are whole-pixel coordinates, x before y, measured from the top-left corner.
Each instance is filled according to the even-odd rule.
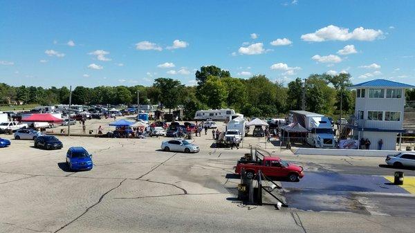
[[[71,147],[66,152],[66,164],[71,171],[91,170],[92,154],[89,154],[84,147]]]

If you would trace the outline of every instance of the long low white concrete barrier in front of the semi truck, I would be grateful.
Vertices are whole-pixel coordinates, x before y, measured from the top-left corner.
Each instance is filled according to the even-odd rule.
[[[378,151],[369,149],[320,149],[320,148],[298,148],[294,154],[316,155],[316,156],[367,156],[386,157],[399,151]]]

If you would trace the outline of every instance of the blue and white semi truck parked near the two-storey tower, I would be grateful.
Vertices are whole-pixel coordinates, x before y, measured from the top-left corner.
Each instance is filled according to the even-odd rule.
[[[290,122],[295,122],[308,130],[306,142],[317,148],[334,148],[336,138],[329,118],[309,111],[290,111]]]

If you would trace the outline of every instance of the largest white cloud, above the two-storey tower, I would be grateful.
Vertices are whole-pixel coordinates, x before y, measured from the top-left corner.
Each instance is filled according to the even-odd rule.
[[[320,28],[313,33],[304,34],[301,39],[304,41],[329,41],[339,40],[347,41],[349,39],[356,39],[359,41],[373,41],[383,35],[382,30],[365,29],[362,27],[355,28],[352,32],[349,32],[349,28],[339,28],[338,26],[329,25],[324,28]]]

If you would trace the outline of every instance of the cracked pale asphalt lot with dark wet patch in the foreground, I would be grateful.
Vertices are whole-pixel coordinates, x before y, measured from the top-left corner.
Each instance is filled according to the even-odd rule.
[[[386,184],[394,169],[379,167],[383,158],[294,156],[261,142],[306,169],[282,182],[289,207],[277,210],[236,201],[239,179],[226,178],[257,139],[231,150],[210,138],[194,138],[201,151],[190,154],[161,151],[163,138],[59,136],[55,151],[12,140],[0,149],[0,232],[413,232],[414,196]],[[91,171],[68,171],[71,146],[93,154]]]

